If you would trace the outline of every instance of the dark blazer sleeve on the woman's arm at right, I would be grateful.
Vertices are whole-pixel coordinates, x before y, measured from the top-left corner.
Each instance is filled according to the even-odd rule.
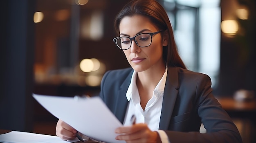
[[[197,83],[194,84],[196,87],[194,108],[197,109],[198,116],[207,132],[165,130],[169,141],[171,143],[242,143],[236,125],[211,92],[210,77],[201,74]]]

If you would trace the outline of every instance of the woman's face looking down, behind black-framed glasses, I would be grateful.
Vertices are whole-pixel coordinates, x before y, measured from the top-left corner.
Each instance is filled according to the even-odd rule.
[[[134,37],[140,33],[153,33],[159,31],[149,18],[142,15],[124,17],[119,25],[120,36]],[[164,65],[162,58],[163,46],[167,45],[167,40],[160,33],[152,36],[152,43],[147,47],[139,47],[132,41],[131,47],[124,50],[126,59],[132,68],[137,71],[160,68]],[[160,67],[159,67],[160,66]]]

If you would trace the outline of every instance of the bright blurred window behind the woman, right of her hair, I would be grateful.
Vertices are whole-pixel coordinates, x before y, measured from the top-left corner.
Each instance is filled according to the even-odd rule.
[[[180,56],[216,86],[220,68],[220,0],[162,0]]]

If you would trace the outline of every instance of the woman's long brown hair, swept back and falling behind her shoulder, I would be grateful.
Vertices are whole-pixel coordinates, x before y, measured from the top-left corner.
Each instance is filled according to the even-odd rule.
[[[174,40],[173,28],[165,9],[156,0],[132,0],[126,4],[117,14],[114,22],[115,30],[119,35],[119,24],[126,16],[143,15],[159,28],[159,30],[168,30],[168,45],[163,47],[163,59],[168,66],[185,68],[177,46]]]

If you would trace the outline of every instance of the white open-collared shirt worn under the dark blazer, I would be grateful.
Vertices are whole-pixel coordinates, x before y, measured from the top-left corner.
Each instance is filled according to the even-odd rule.
[[[132,123],[130,119],[134,114],[136,117],[136,123],[146,123],[150,130],[157,131],[162,143],[170,143],[166,133],[163,130],[158,130],[167,70],[168,68],[166,67],[162,79],[159,81],[153,91],[152,98],[149,99],[148,103],[146,104],[145,110],[143,110],[140,105],[139,91],[136,85],[137,72],[133,72],[130,86],[126,92],[127,100],[130,102],[128,102],[126,116],[124,118],[124,126],[131,125]]]

